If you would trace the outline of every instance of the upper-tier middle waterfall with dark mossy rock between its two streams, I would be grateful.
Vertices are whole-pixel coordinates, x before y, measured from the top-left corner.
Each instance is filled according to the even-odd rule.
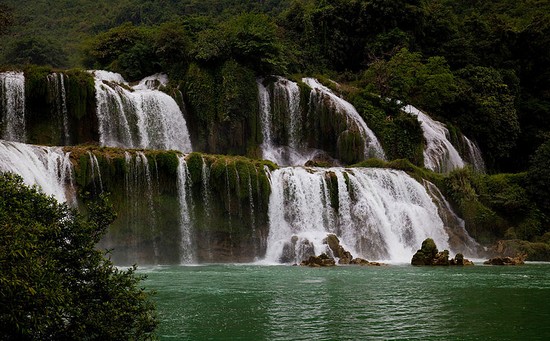
[[[283,166],[384,158],[378,139],[350,103],[313,78],[303,82],[312,89],[307,94],[282,77],[258,80],[263,158]]]

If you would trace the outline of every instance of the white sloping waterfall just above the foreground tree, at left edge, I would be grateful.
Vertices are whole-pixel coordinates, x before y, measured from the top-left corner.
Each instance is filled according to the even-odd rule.
[[[76,204],[69,153],[60,147],[41,147],[0,140],[0,171],[20,175],[59,202]]]

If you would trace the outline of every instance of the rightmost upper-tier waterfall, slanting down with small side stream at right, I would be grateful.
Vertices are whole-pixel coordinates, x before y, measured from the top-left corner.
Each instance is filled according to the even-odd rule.
[[[447,173],[466,165],[458,150],[449,141],[449,130],[443,123],[433,120],[412,105],[405,106],[404,111],[417,117],[424,132],[426,139],[424,166],[426,168],[435,172]],[[485,171],[485,164],[479,148],[465,136],[462,138],[468,152],[467,159],[476,171]]]

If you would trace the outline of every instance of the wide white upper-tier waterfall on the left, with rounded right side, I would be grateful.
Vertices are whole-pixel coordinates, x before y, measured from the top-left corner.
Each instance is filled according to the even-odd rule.
[[[130,87],[119,74],[91,71],[95,77],[100,143],[122,148],[191,152],[187,123],[176,101],[154,87],[155,75]]]

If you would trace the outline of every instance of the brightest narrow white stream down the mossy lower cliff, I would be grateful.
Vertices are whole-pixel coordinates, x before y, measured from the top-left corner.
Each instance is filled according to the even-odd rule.
[[[193,247],[191,207],[193,201],[191,196],[191,177],[187,169],[187,162],[184,156],[179,156],[178,165],[178,199],[180,203],[180,263],[191,264],[195,260],[195,250]]]

